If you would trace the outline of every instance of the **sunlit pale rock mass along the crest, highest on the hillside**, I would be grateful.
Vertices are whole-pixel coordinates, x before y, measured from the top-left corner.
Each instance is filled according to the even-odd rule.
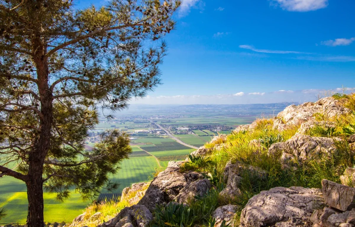
[[[350,113],[351,110],[345,108],[342,101],[327,97],[315,103],[308,102],[298,106],[291,105],[286,107],[274,118],[274,127],[283,130],[292,125],[313,121],[316,114],[322,114],[325,117],[335,117]]]

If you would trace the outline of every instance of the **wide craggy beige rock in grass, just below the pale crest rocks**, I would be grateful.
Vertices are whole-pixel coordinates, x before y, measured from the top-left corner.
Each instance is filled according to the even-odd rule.
[[[269,154],[281,152],[281,162],[286,167],[293,162],[305,162],[318,155],[331,157],[337,151],[334,140],[337,138],[293,136],[285,142],[275,143],[268,150]]]

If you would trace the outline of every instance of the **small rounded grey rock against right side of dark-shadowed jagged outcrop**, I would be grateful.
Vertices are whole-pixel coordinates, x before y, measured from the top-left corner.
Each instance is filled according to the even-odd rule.
[[[190,199],[193,199],[195,196],[202,196],[212,187],[209,179],[202,179],[192,182],[183,188],[179,195],[176,196],[176,201],[178,203],[187,203]]]

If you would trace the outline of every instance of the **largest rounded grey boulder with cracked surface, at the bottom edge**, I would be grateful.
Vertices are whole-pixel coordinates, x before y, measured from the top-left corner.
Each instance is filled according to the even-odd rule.
[[[241,227],[311,226],[315,207],[323,204],[319,189],[272,188],[253,196],[240,217]]]

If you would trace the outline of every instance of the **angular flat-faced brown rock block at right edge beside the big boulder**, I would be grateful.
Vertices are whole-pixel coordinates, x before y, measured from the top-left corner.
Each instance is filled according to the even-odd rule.
[[[341,211],[355,208],[355,188],[322,180],[324,203]]]

